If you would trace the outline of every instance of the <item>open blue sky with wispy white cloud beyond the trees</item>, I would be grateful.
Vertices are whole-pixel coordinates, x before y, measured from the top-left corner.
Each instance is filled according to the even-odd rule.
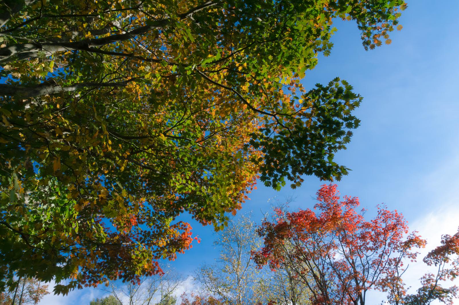
[[[392,32],[392,44],[368,52],[355,23],[336,22],[331,55],[321,56],[303,82],[312,87],[339,76],[364,97],[355,112],[361,126],[348,149],[336,156],[352,169],[337,182],[338,189],[358,196],[369,216],[381,202],[403,212],[410,229],[420,231],[432,248],[441,234],[459,226],[459,1],[412,0],[408,5],[403,30]],[[280,192],[258,185],[240,213],[260,217],[260,211],[269,212],[274,196],[281,201],[294,196],[293,207],[312,207],[323,183],[308,177],[297,190]],[[171,263],[185,275],[218,256],[212,228],[192,225],[201,244]],[[411,268],[407,278],[415,285],[424,270]],[[67,297],[48,296],[40,304],[86,304],[98,294],[84,289]]]

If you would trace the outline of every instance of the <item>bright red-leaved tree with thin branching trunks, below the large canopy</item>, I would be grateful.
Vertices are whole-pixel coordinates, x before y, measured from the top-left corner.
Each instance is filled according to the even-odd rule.
[[[264,246],[252,253],[255,261],[290,267],[307,284],[314,305],[364,305],[369,289],[403,295],[403,262],[414,261],[418,252],[412,249],[425,240],[409,234],[401,213],[378,206],[367,221],[364,209],[356,211],[357,197],[340,201],[338,195],[336,185],[322,185],[314,206],[320,213],[275,209],[274,219],[259,229]]]

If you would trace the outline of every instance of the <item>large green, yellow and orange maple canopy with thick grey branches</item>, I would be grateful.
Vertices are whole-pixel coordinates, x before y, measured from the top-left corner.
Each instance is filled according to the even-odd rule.
[[[0,4],[0,278],[55,292],[161,273],[188,212],[222,228],[259,179],[339,180],[361,98],[300,80],[335,18],[365,49],[403,0],[5,0]],[[66,284],[63,280],[68,279]]]

